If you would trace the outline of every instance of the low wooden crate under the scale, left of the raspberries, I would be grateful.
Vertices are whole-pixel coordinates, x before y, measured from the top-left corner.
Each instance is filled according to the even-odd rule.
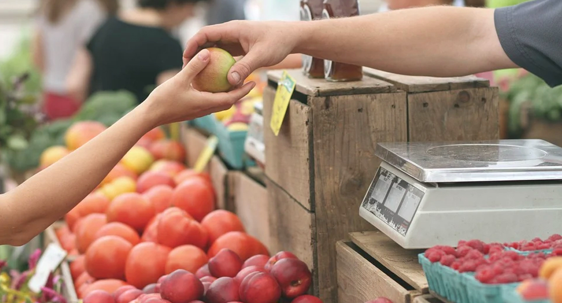
[[[353,232],[339,241],[339,303],[364,303],[387,297],[394,303],[439,302],[429,296],[418,250],[406,250],[380,231]]]

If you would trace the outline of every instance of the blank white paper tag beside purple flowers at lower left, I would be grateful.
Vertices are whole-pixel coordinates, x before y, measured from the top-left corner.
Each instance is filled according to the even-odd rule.
[[[33,277],[29,279],[29,289],[33,292],[40,292],[41,287],[46,285],[49,274],[55,271],[65,258],[66,251],[64,249],[55,243],[49,244],[41,258],[39,258],[39,262],[37,262]]]

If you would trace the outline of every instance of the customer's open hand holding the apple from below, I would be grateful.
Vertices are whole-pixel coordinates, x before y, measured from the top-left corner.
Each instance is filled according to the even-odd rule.
[[[207,66],[209,57],[209,50],[201,50],[182,71],[156,87],[143,102],[142,106],[146,106],[144,113],[154,124],[152,127],[191,120],[229,109],[256,85],[249,82],[235,90],[217,94],[196,90],[191,86],[191,82]]]

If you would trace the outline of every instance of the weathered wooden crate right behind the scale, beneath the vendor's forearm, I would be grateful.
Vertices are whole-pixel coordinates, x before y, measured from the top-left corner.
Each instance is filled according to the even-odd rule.
[[[500,138],[498,88],[475,76],[413,77],[364,68],[407,92],[408,141]]]

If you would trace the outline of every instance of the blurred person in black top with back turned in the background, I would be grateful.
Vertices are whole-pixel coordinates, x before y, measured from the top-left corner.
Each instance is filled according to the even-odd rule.
[[[138,0],[138,7],[108,20],[75,58],[67,78],[72,95],[127,90],[139,102],[182,68],[182,45],[170,34],[193,15],[200,0]]]

